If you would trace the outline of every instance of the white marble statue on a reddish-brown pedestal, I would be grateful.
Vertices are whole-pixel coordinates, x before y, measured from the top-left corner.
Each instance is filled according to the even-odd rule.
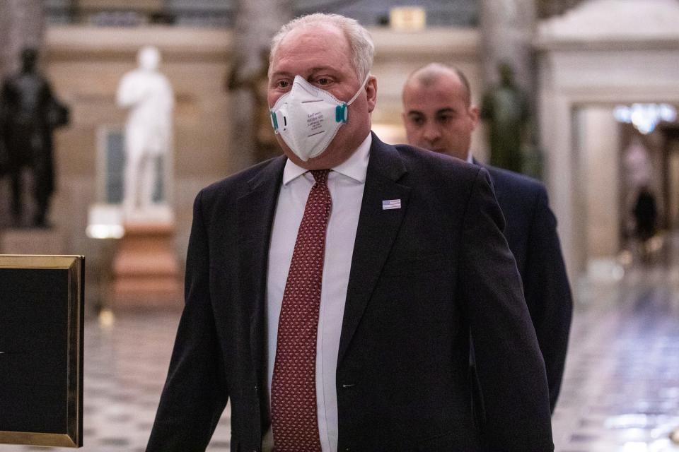
[[[137,61],[139,68],[126,73],[120,81],[117,104],[129,109],[123,208],[127,218],[139,219],[153,216],[158,207],[153,201],[159,182],[157,163],[164,159],[163,165],[167,165],[171,156],[174,94],[166,76],[158,72],[161,54],[156,47],[142,47]],[[167,190],[167,184],[163,187]]]

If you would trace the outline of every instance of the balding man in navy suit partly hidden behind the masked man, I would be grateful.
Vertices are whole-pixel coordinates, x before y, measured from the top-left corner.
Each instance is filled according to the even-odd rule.
[[[472,158],[472,131],[479,110],[458,69],[429,64],[414,71],[403,88],[403,120],[408,143],[478,162]],[[482,165],[490,174],[504,214],[504,236],[516,259],[530,318],[545,359],[550,408],[555,408],[566,360],[573,303],[557,236],[557,220],[540,182]]]

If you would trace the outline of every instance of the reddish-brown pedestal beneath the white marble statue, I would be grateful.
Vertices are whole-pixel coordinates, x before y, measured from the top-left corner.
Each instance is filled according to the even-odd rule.
[[[113,310],[180,309],[182,284],[173,252],[172,222],[129,222],[112,264],[108,300]]]

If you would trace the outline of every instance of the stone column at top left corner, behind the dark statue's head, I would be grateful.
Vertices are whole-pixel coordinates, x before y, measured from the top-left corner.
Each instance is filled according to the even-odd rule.
[[[0,1],[0,78],[18,71],[21,49],[41,49],[44,31],[43,0]]]

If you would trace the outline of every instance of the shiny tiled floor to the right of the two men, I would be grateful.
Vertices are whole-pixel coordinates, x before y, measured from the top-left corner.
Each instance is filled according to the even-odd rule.
[[[679,268],[634,268],[579,293],[552,418],[560,452],[677,452]]]

